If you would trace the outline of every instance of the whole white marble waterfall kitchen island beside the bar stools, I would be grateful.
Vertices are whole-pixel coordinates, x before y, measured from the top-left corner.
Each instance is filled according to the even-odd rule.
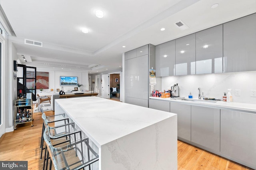
[[[55,100],[99,154],[93,170],[176,170],[177,115],[98,97]]]

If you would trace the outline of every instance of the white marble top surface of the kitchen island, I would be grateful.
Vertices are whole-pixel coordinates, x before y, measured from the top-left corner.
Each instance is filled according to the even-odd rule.
[[[176,115],[99,97],[55,101],[98,147]]]

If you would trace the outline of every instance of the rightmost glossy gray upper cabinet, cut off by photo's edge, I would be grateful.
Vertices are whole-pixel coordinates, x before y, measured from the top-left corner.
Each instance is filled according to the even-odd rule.
[[[256,14],[223,24],[224,72],[256,70]]]

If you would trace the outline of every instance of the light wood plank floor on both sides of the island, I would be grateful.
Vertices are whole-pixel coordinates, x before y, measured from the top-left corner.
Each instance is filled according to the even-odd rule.
[[[45,112],[53,115],[53,111]],[[0,138],[0,160],[27,160],[28,170],[42,170],[40,139],[42,132],[41,113],[33,114],[30,123],[17,126],[17,130],[5,133]],[[54,169],[54,168],[52,168]],[[178,141],[178,170],[252,170],[204,150]]]

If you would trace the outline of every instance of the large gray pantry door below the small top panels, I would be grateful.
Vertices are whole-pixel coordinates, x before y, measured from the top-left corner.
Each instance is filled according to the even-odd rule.
[[[126,60],[125,96],[148,100],[148,55]]]

